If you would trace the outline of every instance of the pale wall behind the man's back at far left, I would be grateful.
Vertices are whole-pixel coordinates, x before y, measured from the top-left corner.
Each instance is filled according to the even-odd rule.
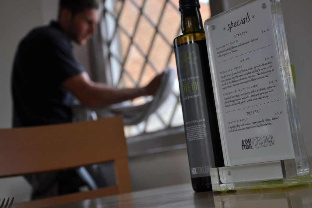
[[[11,127],[10,76],[17,44],[29,28],[41,24],[40,0],[0,1],[0,128]],[[29,194],[25,193],[30,191],[30,186],[22,177],[0,180],[1,198],[15,196],[16,201],[26,201]]]

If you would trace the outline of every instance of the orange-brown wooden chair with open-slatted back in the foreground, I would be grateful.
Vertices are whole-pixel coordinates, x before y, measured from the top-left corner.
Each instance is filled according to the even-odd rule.
[[[35,201],[18,207],[46,207],[131,191],[122,117],[79,123],[0,129],[0,178],[115,164],[117,185]]]

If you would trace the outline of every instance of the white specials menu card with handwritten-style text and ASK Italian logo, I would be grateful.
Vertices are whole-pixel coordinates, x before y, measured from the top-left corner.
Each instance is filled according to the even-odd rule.
[[[205,22],[225,166],[295,158],[271,2]]]

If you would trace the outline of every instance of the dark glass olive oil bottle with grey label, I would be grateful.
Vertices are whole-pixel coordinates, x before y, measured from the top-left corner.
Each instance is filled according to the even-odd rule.
[[[211,191],[209,167],[224,166],[198,0],[180,0],[182,34],[174,39],[185,137],[194,191]]]

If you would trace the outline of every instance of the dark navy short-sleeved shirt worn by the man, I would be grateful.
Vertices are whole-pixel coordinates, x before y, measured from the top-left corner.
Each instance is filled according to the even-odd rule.
[[[71,122],[73,95],[62,81],[83,71],[57,23],[32,30],[20,42],[13,65],[13,127]]]

